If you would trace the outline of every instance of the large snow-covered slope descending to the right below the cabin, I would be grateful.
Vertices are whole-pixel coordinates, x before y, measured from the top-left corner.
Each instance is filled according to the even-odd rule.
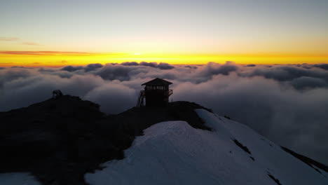
[[[196,110],[213,131],[184,121],[144,130],[123,160],[86,174],[91,185],[106,184],[328,184],[317,172],[247,126],[204,109]]]

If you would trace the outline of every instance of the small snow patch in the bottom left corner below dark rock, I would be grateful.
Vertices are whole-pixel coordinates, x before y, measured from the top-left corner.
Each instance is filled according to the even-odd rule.
[[[1,185],[41,185],[28,173],[0,173]]]

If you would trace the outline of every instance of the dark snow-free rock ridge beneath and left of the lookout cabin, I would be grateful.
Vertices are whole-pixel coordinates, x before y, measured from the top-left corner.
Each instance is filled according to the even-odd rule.
[[[63,95],[0,112],[0,172],[32,172],[46,185],[86,184],[84,174],[108,160],[124,158],[123,151],[151,125],[186,121],[193,128],[211,130],[194,109],[206,108],[192,102],[172,102],[167,107],[133,107],[106,115],[98,104]],[[235,144],[251,154],[237,140]],[[327,172],[327,166],[283,149]]]

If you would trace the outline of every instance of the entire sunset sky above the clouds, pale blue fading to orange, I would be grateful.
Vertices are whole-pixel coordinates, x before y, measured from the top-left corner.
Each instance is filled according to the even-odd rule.
[[[0,66],[328,62],[326,0],[0,1]]]

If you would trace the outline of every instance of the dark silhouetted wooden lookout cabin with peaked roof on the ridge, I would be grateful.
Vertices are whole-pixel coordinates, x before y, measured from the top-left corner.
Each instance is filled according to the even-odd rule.
[[[170,81],[165,81],[160,78],[155,78],[149,82],[143,83],[146,85],[144,90],[140,91],[137,102],[137,107],[144,106],[144,99],[146,99],[147,107],[163,107],[169,102],[169,97],[173,90],[169,89]]]

